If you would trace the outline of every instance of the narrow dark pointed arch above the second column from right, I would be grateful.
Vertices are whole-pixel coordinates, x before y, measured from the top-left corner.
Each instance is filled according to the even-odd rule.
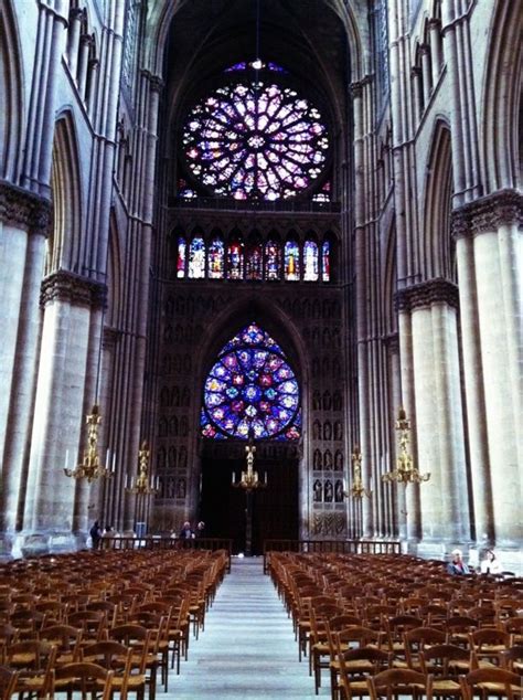
[[[425,279],[451,279],[452,151],[450,129],[442,119],[434,126],[426,172],[420,272]]]

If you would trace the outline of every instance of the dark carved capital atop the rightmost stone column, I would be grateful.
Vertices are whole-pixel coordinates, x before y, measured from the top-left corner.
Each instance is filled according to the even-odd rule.
[[[498,231],[503,224],[523,224],[523,195],[515,190],[494,192],[452,212],[456,238]]]

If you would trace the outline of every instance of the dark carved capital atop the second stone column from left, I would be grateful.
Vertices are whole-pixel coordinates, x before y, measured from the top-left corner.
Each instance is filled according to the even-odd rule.
[[[61,269],[42,282],[40,304],[45,306],[54,300],[68,301],[74,306],[105,308],[107,286],[100,282]]]

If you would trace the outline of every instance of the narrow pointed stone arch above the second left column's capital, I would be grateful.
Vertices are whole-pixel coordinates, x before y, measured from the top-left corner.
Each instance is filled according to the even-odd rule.
[[[45,274],[65,268],[82,274],[82,185],[71,112],[56,121],[51,166],[53,227],[47,240]]]

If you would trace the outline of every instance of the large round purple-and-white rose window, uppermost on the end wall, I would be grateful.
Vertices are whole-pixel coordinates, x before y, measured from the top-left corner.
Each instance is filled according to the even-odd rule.
[[[271,75],[273,73],[273,75]],[[278,200],[311,187],[329,149],[319,109],[289,86],[241,71],[191,109],[183,156],[207,191],[238,200]]]

